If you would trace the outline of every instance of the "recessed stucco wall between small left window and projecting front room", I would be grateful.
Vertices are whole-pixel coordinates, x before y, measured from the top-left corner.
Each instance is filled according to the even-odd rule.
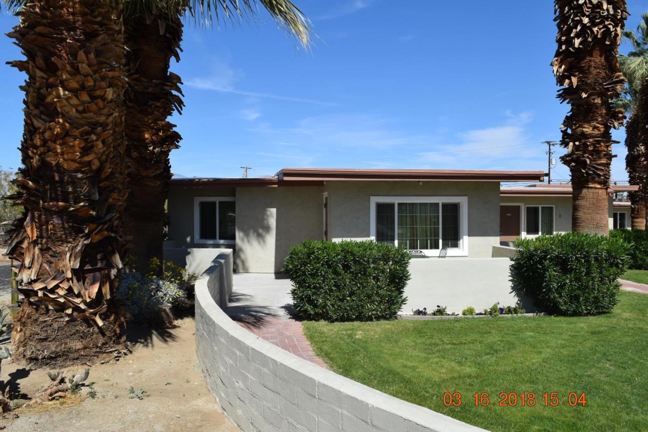
[[[323,237],[322,187],[237,188],[238,272],[271,273],[290,248]]]

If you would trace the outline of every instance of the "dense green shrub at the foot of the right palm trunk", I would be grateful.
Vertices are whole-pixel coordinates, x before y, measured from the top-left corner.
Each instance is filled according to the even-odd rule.
[[[576,232],[518,241],[511,276],[516,289],[556,315],[606,313],[618,302],[617,279],[629,246],[617,237]]]

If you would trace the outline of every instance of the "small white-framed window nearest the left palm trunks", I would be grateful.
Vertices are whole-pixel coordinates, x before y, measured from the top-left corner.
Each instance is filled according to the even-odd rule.
[[[233,245],[236,218],[235,197],[194,197],[194,243]]]

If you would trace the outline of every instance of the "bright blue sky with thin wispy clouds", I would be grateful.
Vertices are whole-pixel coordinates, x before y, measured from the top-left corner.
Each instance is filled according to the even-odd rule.
[[[553,2],[294,0],[318,36],[297,49],[266,14],[196,29],[172,71],[184,81],[184,176],[250,176],[282,167],[546,169],[568,106],[555,99]],[[629,0],[634,29],[648,0]],[[0,16],[8,31],[16,19]],[[622,45],[621,51],[627,51]],[[8,38],[3,61],[20,58]],[[20,161],[24,77],[0,66],[0,165]],[[623,141],[623,130],[614,134]],[[558,155],[564,150],[557,147]],[[612,178],[626,180],[625,149]],[[558,156],[557,155],[557,156]],[[558,161],[555,179],[569,172]]]

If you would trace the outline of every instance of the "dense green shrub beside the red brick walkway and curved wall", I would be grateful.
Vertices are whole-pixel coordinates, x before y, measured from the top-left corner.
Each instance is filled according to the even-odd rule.
[[[301,317],[369,321],[399,313],[410,258],[406,250],[373,241],[305,241],[290,250],[283,270]]]

